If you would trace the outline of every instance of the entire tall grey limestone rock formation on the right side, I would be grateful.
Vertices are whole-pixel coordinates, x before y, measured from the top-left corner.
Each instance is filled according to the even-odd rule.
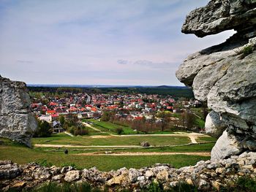
[[[189,55],[176,77],[213,110],[206,131],[219,135],[211,159],[256,150],[256,1],[211,0],[187,15],[185,34],[237,31],[226,42]]]

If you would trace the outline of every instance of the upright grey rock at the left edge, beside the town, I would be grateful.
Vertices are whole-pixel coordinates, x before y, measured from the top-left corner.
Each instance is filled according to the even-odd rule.
[[[0,76],[0,137],[31,146],[37,120],[29,110],[30,99],[24,82]]]

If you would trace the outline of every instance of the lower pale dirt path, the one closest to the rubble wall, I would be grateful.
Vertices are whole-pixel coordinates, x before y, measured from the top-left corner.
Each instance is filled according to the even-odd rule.
[[[72,155],[83,155],[83,156],[99,156],[99,155],[110,155],[110,156],[142,156],[142,155],[199,155],[199,156],[211,156],[209,152],[184,152],[184,153],[176,153],[176,152],[120,152],[120,153],[78,153]]]

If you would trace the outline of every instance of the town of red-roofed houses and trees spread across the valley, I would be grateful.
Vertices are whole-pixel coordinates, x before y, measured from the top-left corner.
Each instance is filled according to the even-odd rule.
[[[64,128],[63,122],[70,118],[78,122],[86,120],[84,126],[95,123],[95,120],[110,121],[129,126],[137,133],[203,131],[207,111],[197,100],[173,99],[170,95],[160,94],[88,94],[78,91],[67,89],[61,95],[31,93],[31,109],[39,120],[51,124],[54,133],[69,129],[68,126]],[[62,122],[61,118],[64,119]]]

